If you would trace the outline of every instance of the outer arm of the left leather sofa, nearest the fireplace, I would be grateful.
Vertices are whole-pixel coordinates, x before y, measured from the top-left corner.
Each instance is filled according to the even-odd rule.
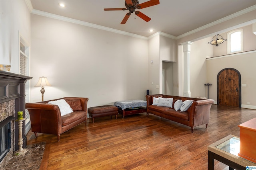
[[[30,114],[32,132],[60,135],[62,120],[57,105],[26,103],[25,106]]]

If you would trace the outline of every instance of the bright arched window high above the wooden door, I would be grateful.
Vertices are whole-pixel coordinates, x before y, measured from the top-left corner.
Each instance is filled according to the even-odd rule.
[[[243,52],[243,29],[235,29],[228,32],[228,54]]]

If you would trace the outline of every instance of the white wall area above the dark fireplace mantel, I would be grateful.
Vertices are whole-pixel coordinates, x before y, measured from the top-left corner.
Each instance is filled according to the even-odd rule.
[[[0,0],[0,64],[19,74],[19,33],[30,45],[30,11],[24,0]]]

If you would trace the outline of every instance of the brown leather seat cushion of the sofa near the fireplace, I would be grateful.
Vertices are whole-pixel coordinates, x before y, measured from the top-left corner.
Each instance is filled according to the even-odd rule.
[[[62,119],[62,126],[69,125],[70,123],[73,123],[74,121],[77,121],[79,119],[82,119],[86,116],[85,111],[74,111],[72,113],[66,114],[61,117]]]

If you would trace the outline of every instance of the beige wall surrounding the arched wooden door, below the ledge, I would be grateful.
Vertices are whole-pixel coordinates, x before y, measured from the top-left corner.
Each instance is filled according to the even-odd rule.
[[[256,51],[245,54],[228,55],[226,57],[207,59],[207,81],[212,82],[209,90],[210,98],[217,101],[217,75],[224,68],[235,68],[241,74],[241,83],[246,87],[241,87],[242,107],[256,109],[256,78],[255,64]],[[250,102],[250,106],[246,106]]]

